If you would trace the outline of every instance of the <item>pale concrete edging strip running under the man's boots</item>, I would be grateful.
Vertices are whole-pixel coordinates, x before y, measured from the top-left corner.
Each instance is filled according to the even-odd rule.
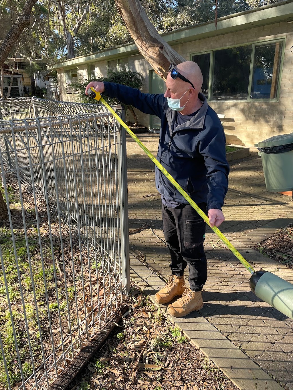
[[[239,389],[283,389],[199,313],[194,312],[180,319],[168,315],[167,306],[159,305],[154,298],[154,293],[164,286],[164,281],[131,254],[130,277],[146,294],[150,295],[152,302],[174,325],[182,330],[190,342],[210,358]]]

